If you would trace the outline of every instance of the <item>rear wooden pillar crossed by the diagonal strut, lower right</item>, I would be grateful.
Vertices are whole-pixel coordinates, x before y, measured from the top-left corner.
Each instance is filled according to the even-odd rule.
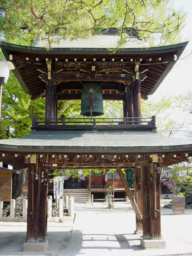
[[[142,169],[135,168],[134,169],[134,176],[135,176],[135,201],[137,207],[140,210],[140,213],[143,215],[143,205],[142,205],[142,188],[141,188],[141,180],[142,180]],[[142,232],[143,227],[138,221],[136,217],[136,230],[135,233]]]

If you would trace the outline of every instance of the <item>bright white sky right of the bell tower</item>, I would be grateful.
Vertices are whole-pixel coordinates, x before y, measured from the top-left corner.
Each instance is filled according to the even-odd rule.
[[[183,29],[183,42],[189,41],[186,46],[185,52],[192,51],[192,0],[174,0],[173,4],[176,8],[184,7],[188,12],[186,17],[186,26]],[[186,40],[188,38],[188,40]],[[185,94],[188,90],[192,90],[192,79],[190,74],[192,73],[192,56],[186,60],[178,60],[171,72],[166,76],[163,82],[160,84],[156,92],[149,97],[149,99],[160,98],[162,96],[169,96],[175,94],[179,96]],[[182,112],[176,110],[172,114],[172,119],[177,122],[182,122]],[[189,116],[192,123],[192,115]],[[173,135],[173,137],[180,137],[186,139],[185,131],[192,131],[192,125],[182,128],[182,131]]]

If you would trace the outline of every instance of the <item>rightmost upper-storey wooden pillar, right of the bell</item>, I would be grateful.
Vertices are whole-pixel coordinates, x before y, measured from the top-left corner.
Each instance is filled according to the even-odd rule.
[[[140,76],[133,82],[134,117],[141,117],[141,82]]]

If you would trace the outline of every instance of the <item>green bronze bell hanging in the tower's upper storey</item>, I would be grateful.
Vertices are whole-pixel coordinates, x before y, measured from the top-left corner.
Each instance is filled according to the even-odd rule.
[[[104,115],[103,95],[99,84],[89,83],[85,84],[85,87],[83,87],[81,92],[81,116]]]

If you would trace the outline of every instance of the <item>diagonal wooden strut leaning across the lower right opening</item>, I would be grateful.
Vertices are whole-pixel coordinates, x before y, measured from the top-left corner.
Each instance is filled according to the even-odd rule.
[[[132,205],[132,207],[134,209],[134,212],[135,212],[135,214],[137,216],[137,219],[140,222],[140,224],[142,225],[143,217],[142,217],[142,215],[140,213],[139,208],[137,207],[137,204],[136,204],[136,202],[134,200],[134,197],[133,197],[133,195],[131,193],[131,190],[129,189],[128,183],[127,183],[127,181],[125,179],[125,175],[123,174],[122,169],[120,167],[117,167],[117,172],[118,172],[119,177],[120,177],[120,179],[122,181],[122,184],[123,184],[123,186],[125,188],[125,192],[128,195],[128,198],[129,198],[129,200],[131,202],[131,205]]]

